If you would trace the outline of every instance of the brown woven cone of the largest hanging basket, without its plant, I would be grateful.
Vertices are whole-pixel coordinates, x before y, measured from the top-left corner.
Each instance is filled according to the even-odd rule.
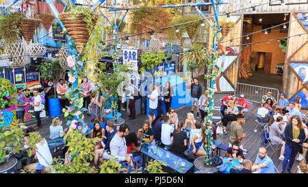
[[[74,41],[79,53],[84,52],[84,47],[90,37],[87,23],[83,20],[84,17],[82,14],[76,15],[70,12],[59,14],[60,21],[62,21],[70,38]],[[92,21],[93,25],[96,24],[96,21],[97,17]]]

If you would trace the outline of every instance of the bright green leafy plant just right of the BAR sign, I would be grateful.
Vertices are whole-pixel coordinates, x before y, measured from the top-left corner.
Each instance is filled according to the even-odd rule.
[[[162,64],[162,62],[167,62],[167,55],[163,51],[158,51],[158,53],[146,52],[144,55],[141,55],[142,60],[142,68],[140,68],[140,72],[145,72],[146,69],[152,68],[152,76],[154,76],[156,66]],[[164,60],[164,61],[163,61]],[[158,72],[159,75],[162,76],[162,72]]]

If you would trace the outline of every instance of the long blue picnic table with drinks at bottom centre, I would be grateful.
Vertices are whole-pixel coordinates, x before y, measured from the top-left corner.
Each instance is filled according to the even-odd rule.
[[[156,145],[157,151],[154,153],[153,145],[150,145],[149,142],[144,142],[141,148],[141,152],[145,155],[149,155],[149,157],[158,160],[166,164],[171,169],[179,172],[179,173],[187,173],[193,166],[191,162],[188,162],[185,158],[182,158],[175,153],[172,153],[162,147]],[[169,158],[167,158],[167,153],[169,154]],[[181,168],[181,162],[185,162],[185,168]]]

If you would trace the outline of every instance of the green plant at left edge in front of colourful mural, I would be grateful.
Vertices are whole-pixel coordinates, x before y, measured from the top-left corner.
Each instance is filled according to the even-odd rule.
[[[16,92],[17,89],[12,86],[10,80],[0,77],[0,112],[16,103],[16,96],[14,96]]]

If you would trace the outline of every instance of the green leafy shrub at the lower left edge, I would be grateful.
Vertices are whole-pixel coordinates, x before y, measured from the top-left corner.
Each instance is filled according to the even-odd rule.
[[[19,153],[21,145],[23,145],[23,129],[11,126],[10,129],[4,131],[2,127],[0,128],[0,162],[5,160],[5,155],[10,149]]]

